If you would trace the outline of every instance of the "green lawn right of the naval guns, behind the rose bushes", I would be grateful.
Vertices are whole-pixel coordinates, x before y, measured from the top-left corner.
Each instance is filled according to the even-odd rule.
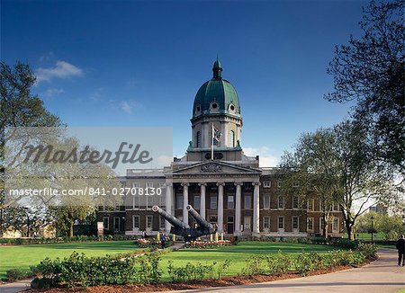
[[[201,262],[202,264],[211,264],[212,262],[223,262],[231,260],[229,269],[225,272],[226,276],[236,276],[245,267],[245,260],[251,255],[267,255],[269,253],[302,253],[317,252],[328,253],[331,250],[341,249],[340,247],[318,245],[318,244],[288,244],[275,242],[239,242],[237,245],[224,246],[216,249],[185,249],[173,253],[167,253],[162,256],[163,279],[169,280],[167,273],[167,262],[170,260],[174,266],[184,266],[187,262]],[[263,262],[266,271],[266,263]]]

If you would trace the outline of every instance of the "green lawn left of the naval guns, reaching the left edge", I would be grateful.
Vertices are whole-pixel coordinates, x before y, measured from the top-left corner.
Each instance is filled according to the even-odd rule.
[[[28,270],[46,257],[56,259],[70,255],[74,251],[87,256],[100,256],[112,253],[130,253],[139,250],[129,241],[74,242],[67,244],[31,244],[0,246],[0,279],[5,271],[20,268]]]

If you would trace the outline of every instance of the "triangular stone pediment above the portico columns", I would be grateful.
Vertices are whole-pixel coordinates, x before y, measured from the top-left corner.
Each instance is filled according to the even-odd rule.
[[[259,169],[221,161],[206,161],[180,167],[173,174],[211,174],[211,173],[261,173]]]

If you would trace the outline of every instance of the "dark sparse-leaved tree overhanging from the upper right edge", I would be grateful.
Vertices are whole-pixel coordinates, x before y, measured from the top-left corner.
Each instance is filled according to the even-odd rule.
[[[404,0],[372,1],[364,10],[359,39],[337,46],[327,70],[334,77],[330,102],[356,101],[354,118],[373,138],[383,166],[405,174]]]

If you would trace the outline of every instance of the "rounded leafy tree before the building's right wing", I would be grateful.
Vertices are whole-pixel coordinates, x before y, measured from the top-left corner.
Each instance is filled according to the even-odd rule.
[[[367,132],[354,121],[344,121],[331,129],[302,135],[295,149],[297,167],[306,185],[315,184],[317,196],[326,204],[336,202],[342,213],[349,238],[353,238],[356,219],[374,200],[387,196],[392,174],[378,168],[369,152]]]

